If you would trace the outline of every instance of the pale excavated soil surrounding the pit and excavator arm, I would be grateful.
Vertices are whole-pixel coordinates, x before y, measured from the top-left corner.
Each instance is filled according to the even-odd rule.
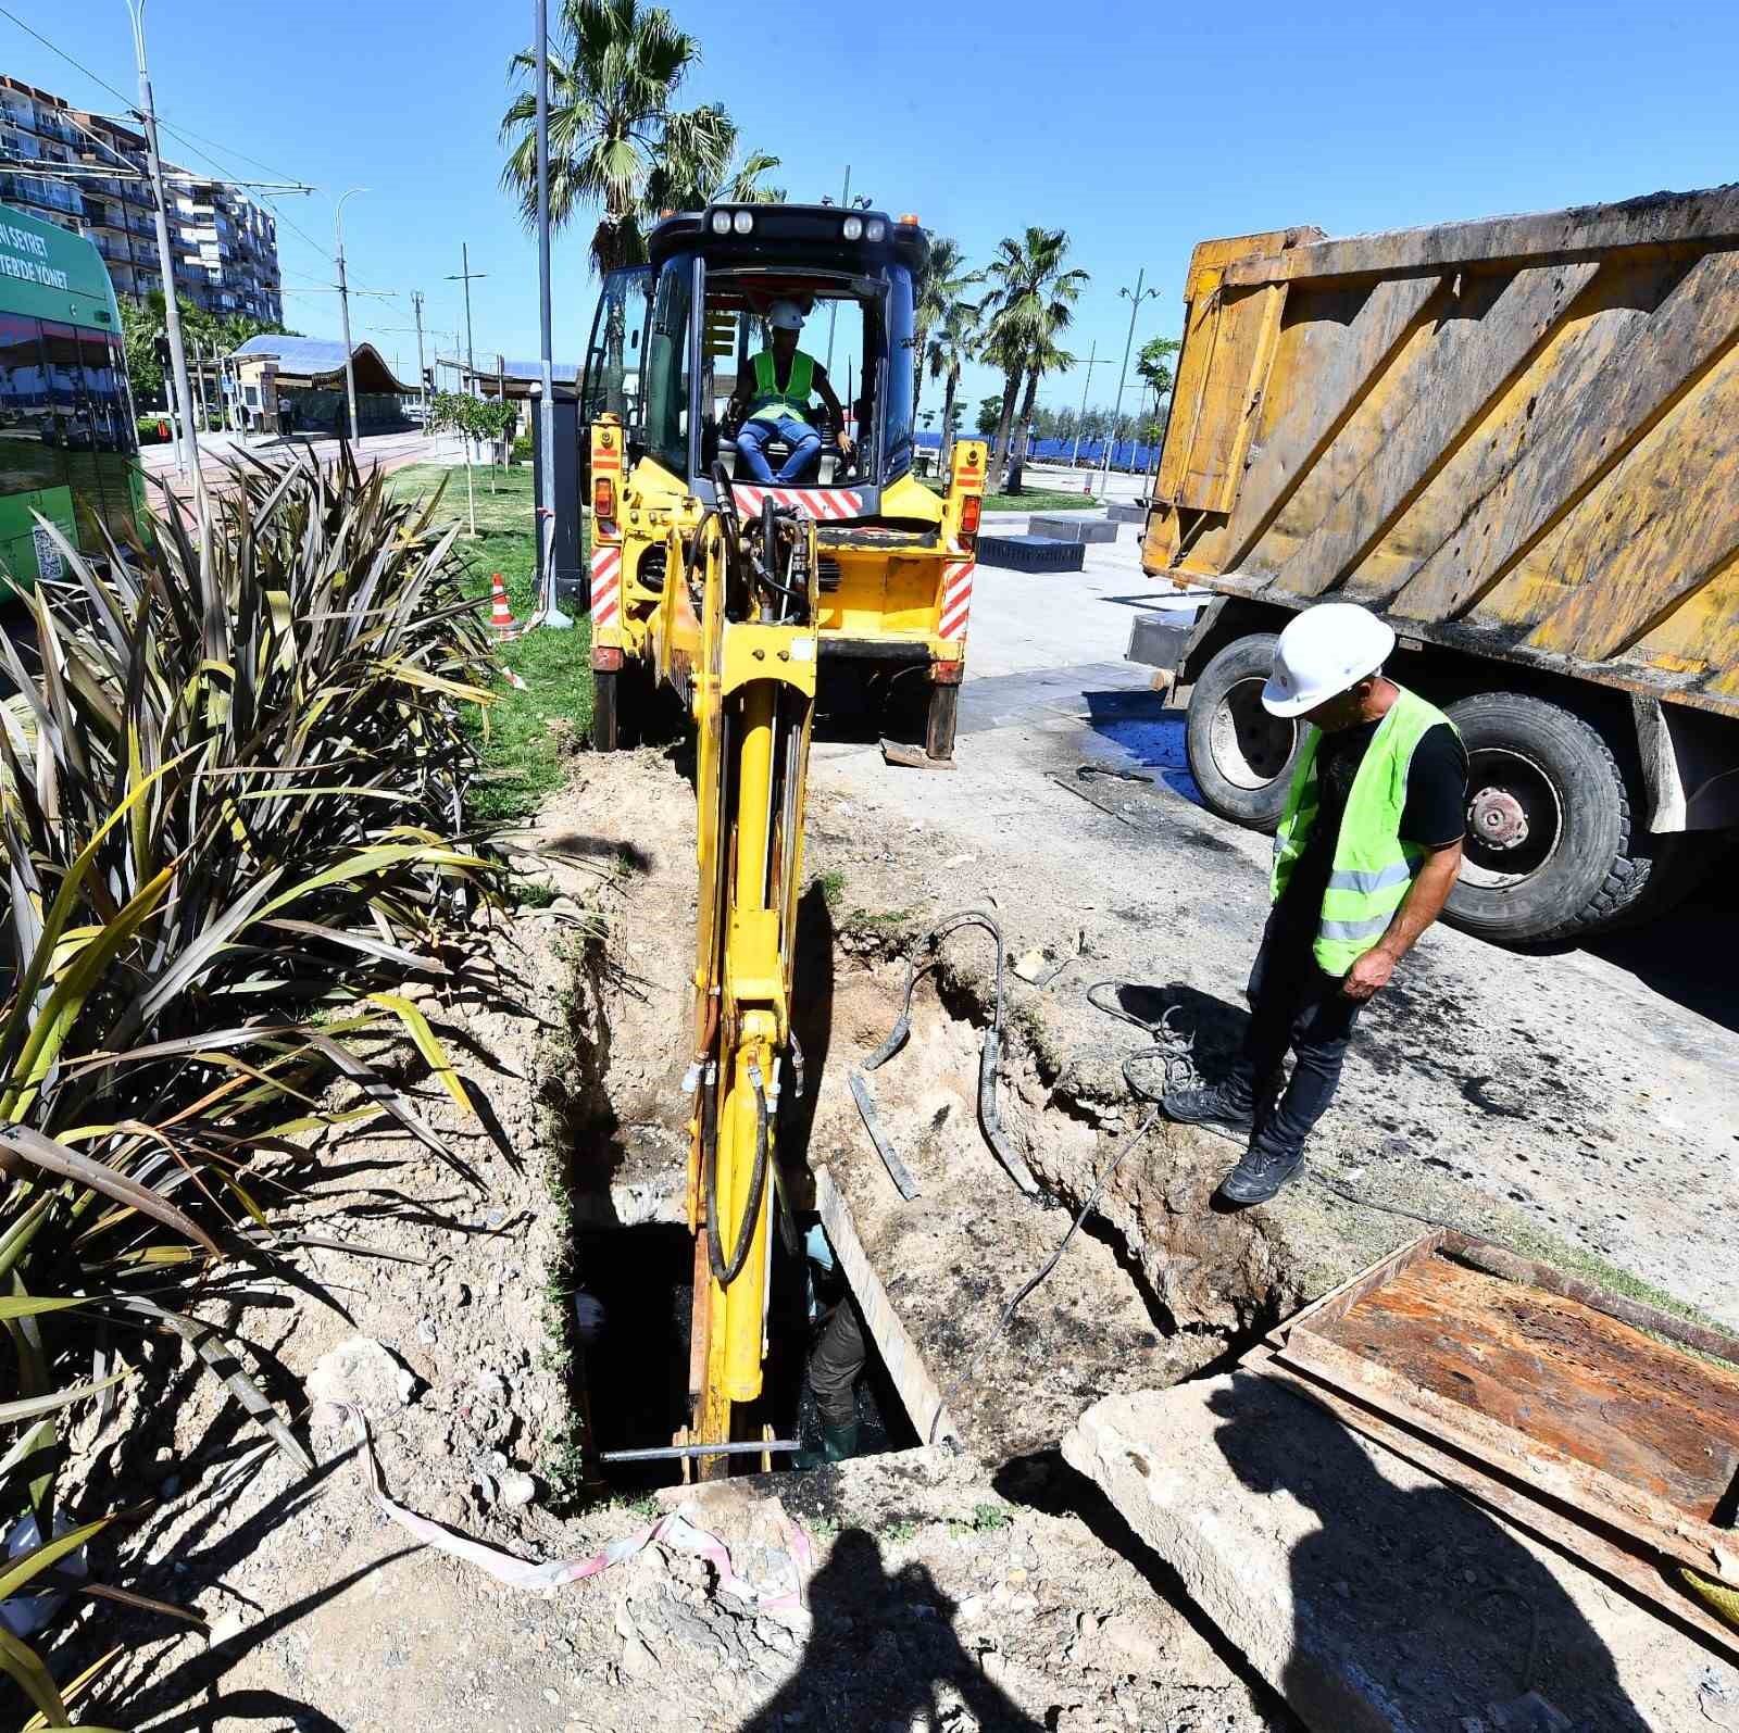
[[[334,1139],[285,1222],[294,1281],[263,1281],[259,1304],[214,1319],[313,1474],[181,1363],[158,1368],[167,1396],[163,1377],[134,1380],[110,1429],[83,1441],[106,1491],[146,1511],[97,1550],[99,1577],[207,1620],[195,1632],[87,1604],[56,1672],[127,1650],[87,1716],[165,1730],[400,1730],[461,1714],[569,1733],[1292,1728],[1052,1448],[1097,1396],[1172,1380],[1269,1316],[1287,1293],[1283,1248],[1200,1213],[1212,1163],[1156,1133],[998,1331],[1127,1114],[1059,1079],[1010,994],[1003,1119],[1061,1208],[1019,1198],[976,1126],[983,979],[949,956],[941,996],[920,989],[911,1043],[875,1076],[923,1185],[899,1205],[845,1079],[892,1020],[909,923],[831,909],[824,878],[803,902],[796,1020],[812,1095],[781,1132],[793,1192],[805,1203],[809,1165],[831,1166],[967,1448],[739,1479],[739,1507],[661,1493],[746,1575],[807,1550],[805,1604],[783,1618],[664,1544],[550,1596],[506,1589],[419,1547],[370,1498],[332,1401],[365,1413],[393,1498],[515,1557],[586,1557],[659,1511],[584,1486],[576,1443],[588,1385],[612,1404],[595,1417],[600,1439],[628,1424],[617,1401],[642,1403],[645,1431],[659,1392],[680,1394],[694,805],[666,753],[572,767],[515,840],[556,902],[482,935],[485,989],[423,999],[480,1116],[430,1088],[419,1107],[475,1179],[377,1128]],[[842,822],[819,803],[817,874]],[[313,1236],[346,1250],[296,1243]],[[304,1279],[330,1302],[297,1293]],[[588,1361],[572,1302],[602,1286]],[[772,1500],[798,1524],[781,1530],[788,1554],[765,1545]]]

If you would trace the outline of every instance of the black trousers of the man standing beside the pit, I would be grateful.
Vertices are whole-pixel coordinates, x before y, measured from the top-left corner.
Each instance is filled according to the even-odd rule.
[[[1299,918],[1275,904],[1250,970],[1250,1024],[1233,1071],[1238,1095],[1250,1106],[1250,1147],[1292,1159],[1311,1126],[1329,1111],[1353,1024],[1363,1010],[1341,991],[1337,975],[1316,966],[1311,942],[1316,911]],[[1292,1074],[1287,1076],[1287,1053]]]

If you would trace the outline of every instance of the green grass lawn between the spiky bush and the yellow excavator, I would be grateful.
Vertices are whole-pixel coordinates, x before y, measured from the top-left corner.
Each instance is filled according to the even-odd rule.
[[[490,574],[508,586],[508,603],[522,624],[536,607],[534,568],[537,542],[532,528],[530,466],[471,471],[476,490],[476,541],[461,530],[457,549],[466,561],[464,591],[483,600],[487,619]],[[494,492],[490,492],[494,480]],[[424,497],[447,483],[436,521],[468,523],[464,468],[412,464],[390,478],[400,499]],[[581,560],[590,554],[588,532],[581,532]],[[562,763],[548,721],[562,718],[576,728],[591,727],[591,621],[579,619],[572,631],[534,631],[499,650],[525,690],[497,681],[501,702],[487,718],[483,779],[471,787],[471,817],[489,824],[513,824],[529,817],[553,787],[562,784]],[[478,732],[485,728],[478,721]]]

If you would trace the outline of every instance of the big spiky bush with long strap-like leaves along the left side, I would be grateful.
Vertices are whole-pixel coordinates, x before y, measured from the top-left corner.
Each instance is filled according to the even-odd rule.
[[[0,1321],[17,1368],[0,1418],[30,1427],[0,1462],[0,1523],[28,1511],[38,1535],[68,1413],[169,1377],[163,1338],[310,1467],[202,1312],[233,1318],[261,1276],[282,1281],[266,1206],[313,1168],[301,1133],[384,1112],[454,1159],[381,1074],[384,1046],[414,1041],[470,1106],[398,991],[450,979],[438,951],[464,937],[463,897],[496,897],[494,866],[450,833],[475,768],[461,711],[489,702],[457,525],[433,535],[350,461],[231,480],[209,560],[176,518],[103,570],[61,541],[66,586],[28,598],[40,661],[0,626],[19,694],[0,711]],[[325,1100],[339,1079],[360,1106]],[[115,1497],[94,1474],[80,1538],[14,1575],[96,1535]],[[0,1669],[64,1724],[9,1641]]]

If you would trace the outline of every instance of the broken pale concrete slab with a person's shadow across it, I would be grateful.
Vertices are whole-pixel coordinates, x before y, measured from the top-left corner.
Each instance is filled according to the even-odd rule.
[[[1699,1723],[1739,1670],[1252,1373],[1096,1403],[1063,1441],[1318,1733],[1436,1733],[1529,1691],[1602,1733]]]

